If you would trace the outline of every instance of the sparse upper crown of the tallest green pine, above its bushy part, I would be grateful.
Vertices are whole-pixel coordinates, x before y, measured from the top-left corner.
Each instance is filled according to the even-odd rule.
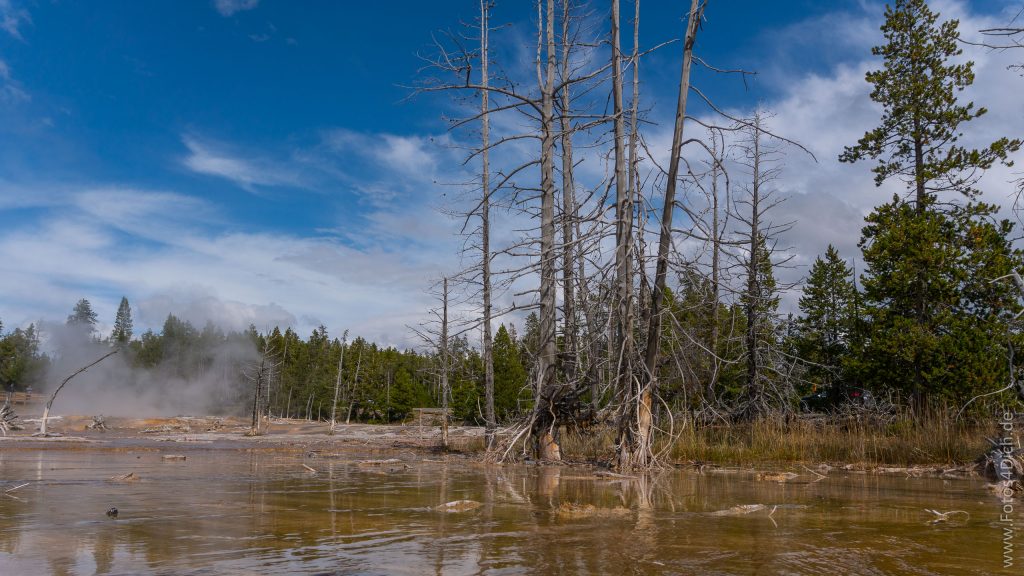
[[[878,160],[871,168],[876,184],[899,178],[913,190],[919,211],[938,192],[974,196],[980,171],[996,161],[1012,164],[1007,155],[1021,146],[1006,137],[981,150],[956,143],[961,124],[986,111],[956,100],[957,92],[974,83],[974,63],[949,63],[963,52],[959,23],[937,24],[938,16],[926,0],[896,0],[886,7],[886,44],[871,49],[884,65],[866,75],[874,87],[871,99],[884,109],[882,124],[840,156],[842,162]]]

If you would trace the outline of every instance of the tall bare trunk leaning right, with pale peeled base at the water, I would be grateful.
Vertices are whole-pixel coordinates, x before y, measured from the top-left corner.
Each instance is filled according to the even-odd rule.
[[[647,326],[647,347],[644,355],[643,384],[638,390],[635,411],[631,422],[624,422],[620,435],[618,465],[624,469],[646,467],[651,464],[651,390],[657,379],[657,358],[662,345],[662,307],[669,273],[669,248],[672,242],[672,216],[676,205],[676,186],[679,180],[679,159],[683,147],[683,122],[686,118],[686,101],[690,91],[690,66],[693,59],[693,43],[696,40],[703,5],[691,0],[686,36],[683,40],[683,65],[679,75],[679,98],[676,101],[676,122],[672,132],[672,157],[669,160],[669,177],[665,190],[665,206],[662,209],[662,230],[658,235],[657,262],[654,272],[654,287],[651,290],[650,321]]]

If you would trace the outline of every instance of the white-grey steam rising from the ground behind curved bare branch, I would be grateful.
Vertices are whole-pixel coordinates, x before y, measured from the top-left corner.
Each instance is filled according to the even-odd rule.
[[[49,397],[76,370],[111,352],[77,326],[44,324],[52,354],[46,376]],[[208,344],[210,342],[207,342]],[[230,415],[246,412],[251,382],[246,371],[259,361],[256,346],[242,334],[220,337],[200,349],[164,349],[154,368],[134,366],[132,352],[123,349],[72,379],[51,411],[59,414],[109,416]]]

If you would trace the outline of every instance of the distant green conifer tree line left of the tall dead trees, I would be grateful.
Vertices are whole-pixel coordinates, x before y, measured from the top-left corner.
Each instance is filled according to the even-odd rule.
[[[132,377],[132,385],[180,385],[211,378],[228,381],[233,394],[219,403],[225,413],[240,414],[250,409],[253,382],[247,375],[253,373],[264,353],[270,357],[272,370],[267,374],[268,389],[260,410],[272,416],[327,419],[332,414],[338,383],[342,396],[337,410],[345,421],[400,421],[414,408],[431,408],[440,403],[436,354],[399,351],[361,337],[348,341],[332,337],[325,326],[305,338],[292,328],[282,331],[275,327],[261,333],[250,326],[246,331],[225,332],[211,323],[197,328],[171,314],[161,330],[136,335],[127,297],[121,300],[109,335],[99,334],[96,324],[97,316],[89,300],[79,300],[61,327],[69,337],[61,338],[58,345],[82,347],[85,343],[94,346],[97,354],[121,347],[121,356],[130,368],[152,376]],[[527,322],[527,327],[531,325]],[[502,422],[510,422],[531,408],[532,398],[525,387],[525,366],[531,357],[527,342],[511,326],[502,325],[496,333],[495,402]],[[217,361],[224,349],[231,351],[229,363]],[[54,354],[63,352],[58,348]],[[482,422],[480,354],[461,336],[453,339],[449,355],[452,417]],[[49,374],[52,364],[53,359],[40,349],[35,325],[0,337],[0,382],[5,389],[42,389],[52,383],[49,379],[59,376]]]

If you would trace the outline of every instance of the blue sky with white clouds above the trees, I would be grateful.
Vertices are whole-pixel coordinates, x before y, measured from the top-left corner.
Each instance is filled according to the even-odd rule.
[[[965,35],[1017,4],[935,2],[965,19]],[[495,43],[513,70],[530,66],[515,61],[529,51],[529,6],[499,2],[494,16],[510,24]],[[643,42],[678,37],[680,6],[647,0]],[[457,106],[410,98],[408,86],[424,76],[417,54],[431,34],[476,9],[0,0],[0,319],[59,320],[88,297],[105,327],[124,294],[143,329],[173,312],[303,333],[323,322],[410,343],[404,327],[430,304],[430,279],[460,266],[458,225],[437,210],[455,195],[437,182],[468,176],[454,148],[462,136],[442,118]],[[593,4],[595,22],[605,10]],[[796,198],[783,216],[803,222],[790,239],[797,261],[827,241],[852,254],[858,218],[891,194],[873,190],[866,167],[835,161],[877,114],[862,75],[882,4],[716,1],[707,18],[699,55],[759,75],[744,89],[698,71],[698,85],[733,111],[773,108],[786,135],[819,156],[794,160],[780,184]],[[1014,56],[972,57],[977,99],[993,111],[980,138],[1021,128],[1006,94],[1020,87],[1005,71]],[[671,114],[678,66],[669,46],[641,68],[652,121]],[[836,221],[812,225],[821,213]]]

